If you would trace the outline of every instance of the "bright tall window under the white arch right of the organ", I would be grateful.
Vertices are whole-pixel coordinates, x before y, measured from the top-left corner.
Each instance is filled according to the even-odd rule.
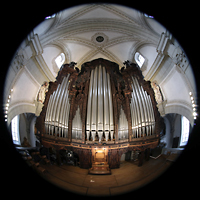
[[[189,133],[190,133],[190,122],[186,117],[182,116],[180,146],[185,146],[187,144],[188,138],[189,138]]]

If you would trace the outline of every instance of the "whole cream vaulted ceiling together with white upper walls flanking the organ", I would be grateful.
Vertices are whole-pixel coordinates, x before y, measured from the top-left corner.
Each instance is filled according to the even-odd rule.
[[[161,114],[178,113],[193,123],[189,92],[195,100],[196,85],[184,51],[154,19],[114,4],[72,7],[33,29],[8,71],[4,91],[4,105],[11,95],[8,122],[17,114],[38,112],[38,91],[44,81],[55,81],[59,71],[55,58],[60,53],[65,54],[65,63],[74,61],[78,68],[96,58],[116,62],[121,68],[126,60],[135,62],[136,52],[145,58],[144,78],[155,82],[163,94],[158,105]]]

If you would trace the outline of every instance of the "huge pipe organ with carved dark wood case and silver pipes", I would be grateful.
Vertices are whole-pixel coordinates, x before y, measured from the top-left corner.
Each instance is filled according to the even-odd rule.
[[[99,166],[98,155],[116,168],[123,153],[143,154],[159,144],[164,122],[151,84],[136,64],[126,61],[119,69],[99,58],[80,70],[75,65],[63,65],[49,83],[36,121],[44,147],[74,151],[83,168]]]

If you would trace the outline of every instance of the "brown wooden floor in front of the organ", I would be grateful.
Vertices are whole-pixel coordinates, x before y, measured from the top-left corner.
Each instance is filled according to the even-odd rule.
[[[170,165],[166,156],[150,158],[141,167],[137,161],[123,161],[120,168],[112,169],[111,175],[89,175],[88,169],[70,165],[43,165],[42,176],[70,192],[86,196],[112,196],[127,193],[151,182]]]

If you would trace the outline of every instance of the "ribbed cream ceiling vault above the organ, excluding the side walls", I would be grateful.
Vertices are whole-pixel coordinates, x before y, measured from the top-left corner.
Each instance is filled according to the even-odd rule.
[[[91,4],[66,9],[34,29],[44,48],[58,47],[67,62],[105,58],[123,66],[145,45],[156,47],[164,28],[141,12],[119,5]],[[98,36],[103,37],[97,42]],[[155,51],[155,49],[154,49]]]

